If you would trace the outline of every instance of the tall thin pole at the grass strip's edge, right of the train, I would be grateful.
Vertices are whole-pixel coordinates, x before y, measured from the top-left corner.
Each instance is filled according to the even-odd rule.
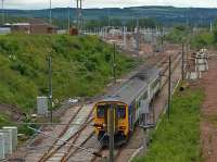
[[[171,107],[171,55],[169,54],[169,75],[168,75],[168,109],[167,115],[168,120],[170,117],[170,107]]]

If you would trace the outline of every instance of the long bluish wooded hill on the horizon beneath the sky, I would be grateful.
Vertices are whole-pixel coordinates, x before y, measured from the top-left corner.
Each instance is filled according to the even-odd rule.
[[[49,10],[7,10],[8,16],[39,17],[48,20]],[[52,9],[52,16],[58,21],[67,20],[67,8]],[[72,20],[75,18],[76,10],[71,9]],[[85,9],[85,20],[111,18],[129,20],[133,17],[153,17],[164,24],[193,23],[197,25],[208,24],[217,17],[217,9],[205,8],[174,8],[174,7],[133,7],[110,9]]]

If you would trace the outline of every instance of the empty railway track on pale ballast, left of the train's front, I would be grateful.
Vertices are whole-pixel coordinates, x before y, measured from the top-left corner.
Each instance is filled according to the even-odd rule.
[[[80,107],[39,162],[64,162],[73,154],[72,152],[82,149],[80,145],[93,135],[93,128],[90,126],[93,121],[92,113],[92,104]]]

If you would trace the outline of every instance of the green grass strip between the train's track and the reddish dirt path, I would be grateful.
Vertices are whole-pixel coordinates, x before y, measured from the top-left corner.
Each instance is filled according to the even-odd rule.
[[[170,121],[163,116],[146,154],[135,162],[199,162],[201,89],[177,92],[173,100]]]

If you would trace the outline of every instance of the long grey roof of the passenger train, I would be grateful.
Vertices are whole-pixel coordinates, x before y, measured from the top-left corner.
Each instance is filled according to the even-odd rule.
[[[115,92],[105,96],[100,102],[119,101],[130,104],[141,91],[148,87],[149,83],[159,75],[159,70],[151,67],[133,75]]]

